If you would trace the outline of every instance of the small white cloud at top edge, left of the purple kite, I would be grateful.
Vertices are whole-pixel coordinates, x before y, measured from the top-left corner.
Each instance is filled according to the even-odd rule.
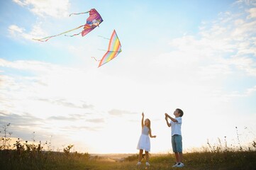
[[[69,0],[13,0],[20,6],[26,6],[38,16],[63,17],[68,15]]]

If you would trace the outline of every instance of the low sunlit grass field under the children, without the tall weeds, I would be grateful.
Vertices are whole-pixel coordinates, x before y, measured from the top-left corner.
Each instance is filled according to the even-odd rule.
[[[137,154],[125,157],[121,161],[111,156],[100,157],[89,154],[65,152],[37,152],[16,150],[0,151],[0,169],[256,169],[256,151],[237,152],[194,152],[184,154],[183,168],[172,168],[173,154],[150,157],[150,167],[136,166]]]

